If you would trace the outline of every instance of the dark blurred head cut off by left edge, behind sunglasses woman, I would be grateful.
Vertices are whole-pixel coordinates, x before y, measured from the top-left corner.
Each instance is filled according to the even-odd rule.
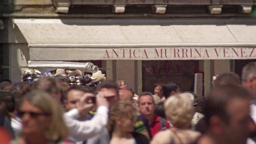
[[[15,99],[10,92],[0,92],[0,101],[4,102],[9,112],[15,110]]]

